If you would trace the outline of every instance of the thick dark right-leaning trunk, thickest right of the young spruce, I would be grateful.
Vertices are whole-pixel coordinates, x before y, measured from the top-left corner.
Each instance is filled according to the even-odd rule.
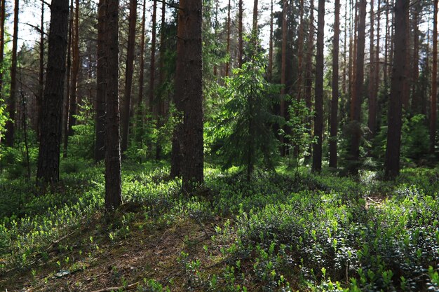
[[[437,0],[435,0],[437,3]],[[405,67],[407,66],[407,18],[409,0],[396,0],[395,4],[395,55],[391,78],[391,92],[389,100],[387,131],[386,160],[384,162],[385,175],[391,179],[398,176],[400,171],[400,143],[402,127],[402,96],[404,83],[407,82]]]

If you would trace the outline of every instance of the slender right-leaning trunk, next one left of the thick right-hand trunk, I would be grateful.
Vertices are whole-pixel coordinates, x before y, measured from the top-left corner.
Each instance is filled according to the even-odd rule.
[[[353,127],[351,137],[351,160],[356,163],[360,159],[360,139],[362,130],[361,103],[364,79],[364,56],[365,56],[365,22],[366,22],[366,0],[358,3],[358,41],[356,49],[356,78],[355,78],[355,99],[353,99]],[[353,165],[352,173],[358,172],[358,165]]]

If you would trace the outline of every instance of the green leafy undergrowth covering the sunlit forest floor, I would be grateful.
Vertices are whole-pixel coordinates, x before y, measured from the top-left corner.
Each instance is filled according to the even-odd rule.
[[[0,277],[49,260],[48,246],[103,214],[102,165],[69,163],[46,195],[0,178]],[[196,223],[209,239],[205,255],[182,250],[171,263],[186,279],[183,291],[439,289],[438,169],[405,169],[391,182],[374,172],[346,178],[279,169],[255,172],[249,183],[236,169],[208,167],[191,196],[168,170],[126,162],[125,204],[101,231],[123,242],[139,226]],[[137,290],[172,287],[145,276]]]

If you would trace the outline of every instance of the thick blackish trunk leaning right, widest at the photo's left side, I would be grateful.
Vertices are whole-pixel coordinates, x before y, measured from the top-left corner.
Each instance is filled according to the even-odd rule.
[[[50,11],[46,86],[42,101],[41,136],[36,171],[36,179],[43,183],[56,182],[60,176],[62,102],[64,100],[69,1],[52,0]]]

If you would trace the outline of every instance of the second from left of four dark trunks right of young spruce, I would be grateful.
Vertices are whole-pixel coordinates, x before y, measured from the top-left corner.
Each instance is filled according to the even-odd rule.
[[[329,166],[337,168],[337,114],[339,103],[339,26],[340,0],[335,0],[334,39],[332,41],[332,99],[330,129],[330,162]]]

